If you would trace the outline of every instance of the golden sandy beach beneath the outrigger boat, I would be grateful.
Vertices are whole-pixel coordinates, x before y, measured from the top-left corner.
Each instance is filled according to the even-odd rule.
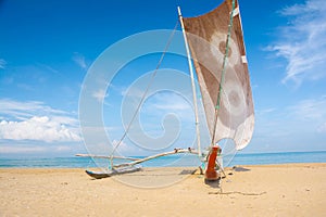
[[[147,169],[92,180],[84,169],[0,169],[0,216],[326,214],[326,164],[229,168],[220,187],[190,174]]]

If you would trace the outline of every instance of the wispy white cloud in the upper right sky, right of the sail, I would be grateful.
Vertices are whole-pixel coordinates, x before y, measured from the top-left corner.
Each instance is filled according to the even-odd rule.
[[[280,14],[289,18],[280,27],[280,40],[268,50],[287,60],[286,77],[300,86],[304,80],[326,77],[326,4],[324,0],[306,0],[304,4],[285,8]]]

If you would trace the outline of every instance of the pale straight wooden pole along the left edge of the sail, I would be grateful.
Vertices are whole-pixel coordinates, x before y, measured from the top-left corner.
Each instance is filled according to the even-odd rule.
[[[185,25],[184,25],[184,21],[183,21],[180,7],[178,7],[178,15],[179,15],[180,24],[181,24],[181,29],[183,29],[184,40],[185,40],[185,47],[186,47],[186,52],[187,52],[187,58],[188,58],[188,65],[189,65],[191,87],[192,87],[193,106],[195,106],[197,148],[198,148],[198,155],[199,155],[199,157],[201,157],[200,131],[199,131],[199,119],[198,119],[198,105],[197,105],[197,97],[196,97],[193,68],[192,68],[192,64],[191,64],[191,56],[190,56],[190,51],[189,51],[189,46],[188,46],[188,41],[187,41],[187,35],[186,35],[186,30],[185,30]]]

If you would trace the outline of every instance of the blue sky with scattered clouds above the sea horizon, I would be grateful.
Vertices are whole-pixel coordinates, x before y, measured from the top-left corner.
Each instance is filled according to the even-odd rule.
[[[135,34],[174,29],[177,5],[184,16],[190,17],[206,13],[221,2],[0,1],[0,156],[85,153],[89,144],[80,130],[80,95],[99,56]],[[255,112],[254,133],[243,152],[325,151],[326,3],[324,0],[239,0],[239,3]],[[179,25],[177,29],[180,30]],[[152,40],[166,43],[168,38],[161,40],[153,36]],[[178,42],[181,44],[181,40]],[[124,48],[121,55],[128,52]],[[122,56],[114,60],[118,62]],[[148,72],[155,69],[160,56],[148,54],[130,61],[112,78],[108,89],[91,94],[103,102],[100,115],[112,143],[116,144],[124,135],[122,122],[127,126],[131,118],[123,120],[121,114],[134,114],[122,110],[124,100],[143,94],[145,81],[150,80]],[[167,54],[161,66],[188,73],[184,56]],[[130,89],[137,82],[142,90]],[[173,84],[171,77],[163,76],[155,87],[164,89],[167,84]],[[191,98],[168,91],[151,94],[139,117],[147,136],[156,138],[164,133],[167,129],[162,128],[162,117],[173,113],[183,124],[176,129],[175,145],[191,143],[196,133]],[[136,104],[128,106],[135,108]],[[93,112],[91,107],[89,114]],[[164,126],[179,127],[177,123],[168,124]],[[130,133],[136,133],[133,128]],[[121,144],[121,151],[127,155],[147,149],[129,148],[128,143],[130,138]]]

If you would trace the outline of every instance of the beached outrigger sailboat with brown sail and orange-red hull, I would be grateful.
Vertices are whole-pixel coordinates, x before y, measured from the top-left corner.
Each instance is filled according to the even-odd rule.
[[[86,170],[89,176],[98,179],[138,171],[140,169],[136,166],[138,164],[166,155],[187,153],[200,157],[203,162],[200,169],[204,174],[204,179],[214,181],[224,173],[223,154],[218,142],[231,139],[237,151],[249,144],[254,128],[254,110],[238,1],[225,0],[206,14],[187,18],[181,16],[178,8],[178,16],[192,87],[197,149],[175,149],[145,158],[115,156],[114,152],[127,135],[126,130],[111,156],[76,154],[111,161],[111,168],[108,171]],[[200,87],[211,141],[206,152],[201,150],[195,74]],[[128,162],[114,165],[114,158],[124,158]]]

